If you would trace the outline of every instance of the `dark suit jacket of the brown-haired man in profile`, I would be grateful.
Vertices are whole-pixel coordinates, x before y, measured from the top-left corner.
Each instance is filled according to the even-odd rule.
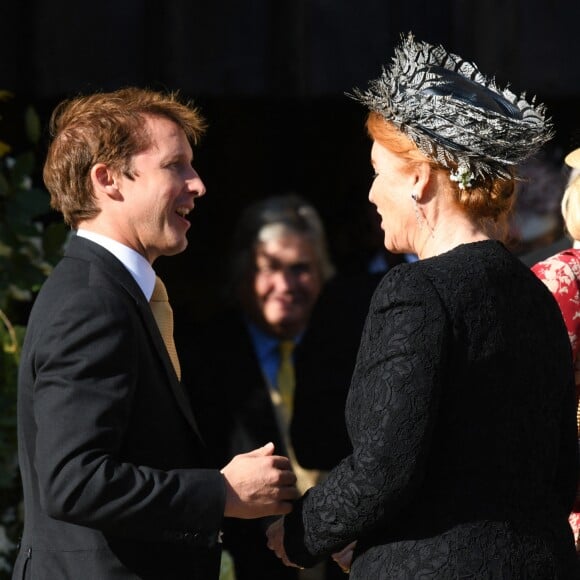
[[[225,485],[119,260],[74,237],[19,375],[25,525],[14,578],[217,578]]]

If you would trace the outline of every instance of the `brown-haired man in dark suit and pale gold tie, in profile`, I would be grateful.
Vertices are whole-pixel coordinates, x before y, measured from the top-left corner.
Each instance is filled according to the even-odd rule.
[[[210,580],[224,516],[290,510],[273,446],[209,469],[149,299],[205,193],[203,131],[175,95],[79,97],[51,119],[44,170],[76,235],[35,301],[19,376],[25,524],[15,578]],[[220,466],[221,467],[221,466]]]

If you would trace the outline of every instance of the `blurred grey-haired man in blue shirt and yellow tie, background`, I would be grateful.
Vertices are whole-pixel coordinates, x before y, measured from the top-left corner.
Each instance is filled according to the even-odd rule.
[[[350,295],[347,309],[334,273],[316,209],[294,194],[272,196],[239,219],[227,308],[199,325],[176,316],[184,382],[216,465],[233,450],[272,441],[290,455],[304,492],[350,453],[344,405],[372,289]],[[237,580],[300,574],[267,549],[266,527],[226,520]],[[301,574],[343,576],[328,564],[327,576],[326,563]]]

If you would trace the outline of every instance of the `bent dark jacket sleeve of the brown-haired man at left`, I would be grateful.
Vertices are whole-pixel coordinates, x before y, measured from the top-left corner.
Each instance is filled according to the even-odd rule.
[[[115,292],[89,288],[64,301],[37,337],[43,508],[56,519],[130,537],[215,537],[225,502],[218,471],[164,471],[122,460],[143,364],[139,321],[134,305]]]

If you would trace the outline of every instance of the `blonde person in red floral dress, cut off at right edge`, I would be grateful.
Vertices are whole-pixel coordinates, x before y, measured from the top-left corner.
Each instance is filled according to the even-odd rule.
[[[572,347],[576,379],[576,404],[580,398],[580,149],[569,153],[566,165],[572,168],[562,198],[562,217],[566,231],[572,238],[572,247],[538,262],[532,267],[535,274],[546,284],[556,298]],[[577,425],[580,434],[580,412],[577,406]],[[580,439],[579,439],[580,442]],[[580,552],[580,488],[576,493],[574,508],[570,514],[576,551]]]

